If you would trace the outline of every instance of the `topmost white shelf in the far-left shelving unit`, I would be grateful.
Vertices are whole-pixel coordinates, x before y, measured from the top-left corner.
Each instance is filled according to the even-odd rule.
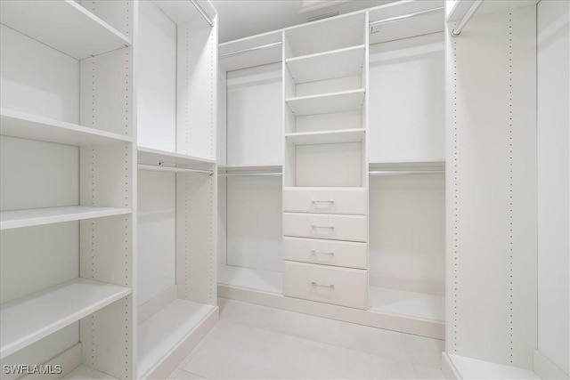
[[[4,25],[77,60],[132,42],[73,0],[2,1]]]

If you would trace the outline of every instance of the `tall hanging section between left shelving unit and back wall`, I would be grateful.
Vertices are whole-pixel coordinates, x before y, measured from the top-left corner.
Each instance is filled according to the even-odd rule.
[[[216,10],[138,13],[137,378],[166,378],[218,319]]]

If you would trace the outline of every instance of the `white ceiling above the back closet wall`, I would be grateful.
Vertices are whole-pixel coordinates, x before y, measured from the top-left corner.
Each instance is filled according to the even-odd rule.
[[[219,42],[253,36],[307,22],[330,12],[339,14],[395,0],[211,0],[219,14]]]

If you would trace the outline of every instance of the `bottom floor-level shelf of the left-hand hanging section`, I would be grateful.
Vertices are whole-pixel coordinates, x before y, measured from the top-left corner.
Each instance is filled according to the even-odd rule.
[[[138,327],[138,374],[144,376],[216,307],[175,300]]]

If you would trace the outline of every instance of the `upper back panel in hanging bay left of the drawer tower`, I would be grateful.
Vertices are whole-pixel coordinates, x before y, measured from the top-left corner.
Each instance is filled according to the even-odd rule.
[[[281,165],[281,64],[227,73],[227,164]]]

